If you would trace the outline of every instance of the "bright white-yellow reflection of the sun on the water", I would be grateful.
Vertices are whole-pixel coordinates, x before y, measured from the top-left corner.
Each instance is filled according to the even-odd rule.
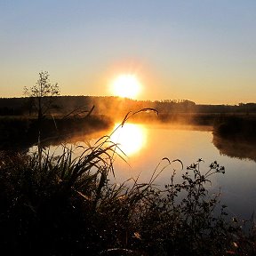
[[[119,128],[117,128],[118,126]],[[116,124],[114,131],[110,140],[116,143],[126,156],[132,156],[138,153],[146,145],[146,129],[141,124],[127,123],[123,127],[120,124]]]

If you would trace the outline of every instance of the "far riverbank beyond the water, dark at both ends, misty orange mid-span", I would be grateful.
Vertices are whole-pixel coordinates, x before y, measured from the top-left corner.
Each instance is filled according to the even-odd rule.
[[[115,123],[121,123],[124,116],[90,115],[85,117],[48,116],[42,120],[41,142],[44,145],[58,144],[74,136],[107,131]],[[237,143],[252,144],[256,141],[256,115],[223,113],[147,113],[132,116],[133,123],[159,125],[196,125],[212,127],[215,138],[236,140]],[[217,141],[217,140],[215,140]],[[29,148],[38,142],[38,122],[36,117],[1,116],[0,149]],[[217,143],[217,142],[216,142]],[[255,143],[254,143],[255,144]],[[253,144],[253,145],[254,145]],[[218,144],[219,145],[219,144]]]

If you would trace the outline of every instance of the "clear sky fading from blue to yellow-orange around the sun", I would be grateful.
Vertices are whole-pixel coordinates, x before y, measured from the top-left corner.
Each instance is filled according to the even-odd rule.
[[[256,102],[255,0],[0,0],[0,97],[48,71],[61,95]]]

